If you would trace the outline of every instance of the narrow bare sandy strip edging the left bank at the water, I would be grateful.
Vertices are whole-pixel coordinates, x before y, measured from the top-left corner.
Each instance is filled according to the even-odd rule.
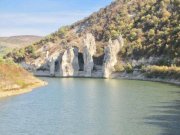
[[[42,87],[45,85],[47,85],[47,82],[40,81],[38,83],[34,83],[32,85],[29,85],[26,88],[21,88],[21,89],[17,89],[17,90],[0,91],[0,98],[5,98],[5,97],[10,97],[10,96],[28,93],[28,92],[33,91],[33,89],[35,89],[35,88]]]

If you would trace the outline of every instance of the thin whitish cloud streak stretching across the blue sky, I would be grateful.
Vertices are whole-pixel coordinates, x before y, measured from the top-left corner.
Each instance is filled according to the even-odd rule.
[[[12,23],[57,23],[68,19],[76,20],[87,16],[90,13],[5,13],[0,14],[0,25],[4,22]]]

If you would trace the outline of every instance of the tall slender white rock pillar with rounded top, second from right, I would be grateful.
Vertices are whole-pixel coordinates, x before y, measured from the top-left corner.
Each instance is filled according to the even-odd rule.
[[[95,38],[92,34],[86,34],[83,47],[84,72],[86,77],[91,77],[94,67],[93,55],[96,53]]]

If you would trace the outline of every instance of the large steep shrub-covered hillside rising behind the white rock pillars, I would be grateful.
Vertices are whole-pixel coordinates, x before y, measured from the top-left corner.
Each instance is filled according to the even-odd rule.
[[[148,65],[176,67],[180,66],[179,22],[179,0],[116,0],[84,20],[61,27],[7,57],[13,57],[16,62],[43,65],[46,51],[53,56],[76,46],[82,52],[85,34],[92,33],[97,48],[94,57],[100,59],[109,39],[122,35],[124,46],[118,54],[116,71],[143,70],[142,66]]]

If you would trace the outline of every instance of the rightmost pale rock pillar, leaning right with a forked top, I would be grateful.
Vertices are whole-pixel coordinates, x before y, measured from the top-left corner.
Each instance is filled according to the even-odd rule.
[[[104,64],[103,64],[103,77],[109,78],[114,71],[114,66],[117,63],[117,54],[120,48],[124,45],[122,36],[112,41],[109,40],[107,47],[104,50]]]

